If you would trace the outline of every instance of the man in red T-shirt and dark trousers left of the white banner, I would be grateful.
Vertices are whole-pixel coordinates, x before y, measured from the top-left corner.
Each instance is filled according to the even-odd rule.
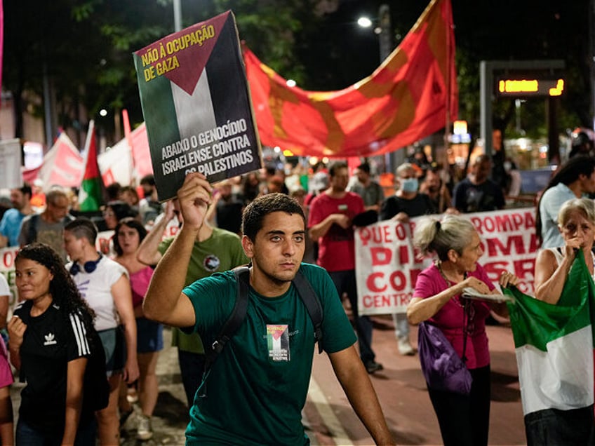
[[[308,215],[309,236],[319,243],[318,264],[330,274],[339,296],[345,292],[352,306],[359,352],[368,373],[382,370],[372,350],[372,321],[359,316],[355,280],[355,243],[352,219],[364,212],[361,196],[348,192],[349,170],[344,162],[328,168],[330,187],[314,198]]]

